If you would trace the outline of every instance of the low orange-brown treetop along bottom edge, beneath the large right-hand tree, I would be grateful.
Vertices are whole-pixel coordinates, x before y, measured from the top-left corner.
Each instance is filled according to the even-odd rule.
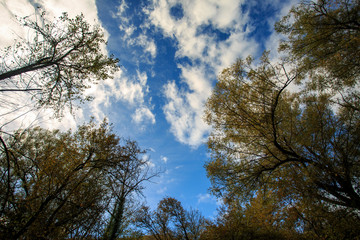
[[[283,194],[261,189],[247,202],[226,198],[201,239],[359,239],[358,213],[313,199],[282,201]]]

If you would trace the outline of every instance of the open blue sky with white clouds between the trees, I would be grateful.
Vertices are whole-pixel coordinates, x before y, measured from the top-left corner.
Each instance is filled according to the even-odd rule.
[[[204,104],[217,75],[237,58],[276,58],[281,36],[274,23],[296,0],[0,0],[0,47],[27,32],[15,16],[83,13],[100,24],[108,41],[103,51],[120,60],[114,79],[92,86],[94,97],[74,114],[53,119],[51,110],[16,113],[12,127],[41,125],[76,128],[93,116],[107,118],[114,132],[136,140],[144,156],[162,174],[144,191],[153,208],[174,197],[185,208],[214,217],[220,201],[210,192],[204,164],[211,127],[203,121]],[[0,109],[3,113],[4,109]],[[26,112],[24,110],[24,112]],[[6,115],[6,117],[9,117]],[[0,114],[0,121],[6,122]]]

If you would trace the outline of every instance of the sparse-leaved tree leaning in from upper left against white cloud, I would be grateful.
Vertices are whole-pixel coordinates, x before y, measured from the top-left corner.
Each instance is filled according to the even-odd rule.
[[[3,50],[0,60],[0,94],[31,94],[37,107],[61,114],[74,100],[90,100],[83,92],[91,83],[105,80],[118,69],[117,59],[104,55],[99,26],[90,27],[83,15],[74,19],[64,13],[49,21],[45,12],[38,20],[19,19],[30,35]]]

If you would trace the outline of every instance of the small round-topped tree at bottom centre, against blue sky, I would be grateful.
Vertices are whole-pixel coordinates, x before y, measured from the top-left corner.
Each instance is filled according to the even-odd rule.
[[[137,225],[156,240],[200,239],[205,227],[205,218],[197,210],[185,210],[181,202],[168,197],[162,199],[157,210],[142,207],[136,217]]]

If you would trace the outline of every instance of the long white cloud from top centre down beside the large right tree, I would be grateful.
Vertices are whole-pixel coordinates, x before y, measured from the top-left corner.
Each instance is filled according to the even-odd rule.
[[[241,13],[241,3],[241,0],[155,0],[153,9],[148,10],[151,23],[177,41],[175,56],[191,60],[189,65],[178,65],[186,87],[178,89],[174,82],[164,86],[167,103],[163,111],[175,137],[192,147],[202,144],[210,130],[202,118],[216,74],[236,58],[257,50],[257,44],[240,31],[247,19],[246,14]],[[180,19],[170,14],[177,4],[183,9]],[[229,37],[219,41],[216,35],[201,32],[204,26],[227,33]]]

